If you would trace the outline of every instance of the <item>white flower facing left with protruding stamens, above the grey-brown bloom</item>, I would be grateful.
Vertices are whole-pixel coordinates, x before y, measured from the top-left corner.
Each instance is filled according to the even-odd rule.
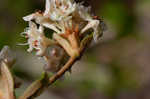
[[[37,50],[36,55],[41,56],[44,54],[47,46],[52,44],[52,40],[46,38],[43,33],[43,27],[40,26],[37,28],[37,25],[33,22],[29,22],[29,28],[23,34],[26,34],[28,38],[27,44],[29,44],[28,52],[31,52],[33,49]]]

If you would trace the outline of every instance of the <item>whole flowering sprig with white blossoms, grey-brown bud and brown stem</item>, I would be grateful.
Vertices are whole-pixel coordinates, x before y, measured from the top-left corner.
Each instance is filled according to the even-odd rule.
[[[35,50],[37,57],[44,58],[45,65],[42,77],[31,84],[19,99],[39,96],[65,72],[71,71],[72,65],[81,58],[84,50],[92,41],[96,43],[104,31],[103,21],[91,14],[90,7],[73,0],[46,0],[44,12],[37,11],[23,19],[29,23],[21,33],[27,38],[27,43],[23,45],[29,46],[28,52]],[[46,28],[53,31],[51,38],[45,36]],[[5,63],[1,62],[2,65]],[[49,72],[53,75],[49,76]],[[15,99],[13,87],[11,90],[12,98],[7,99]]]

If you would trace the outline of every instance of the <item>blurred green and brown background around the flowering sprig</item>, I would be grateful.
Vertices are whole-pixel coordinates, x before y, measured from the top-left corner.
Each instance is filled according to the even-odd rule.
[[[77,0],[80,2],[81,0]],[[37,99],[150,99],[150,0],[85,0],[104,19],[107,30],[63,81],[57,81]],[[21,78],[20,95],[40,77],[43,61],[27,53],[20,33],[22,17],[45,0],[0,0],[0,49],[9,45],[17,55],[13,73]]]

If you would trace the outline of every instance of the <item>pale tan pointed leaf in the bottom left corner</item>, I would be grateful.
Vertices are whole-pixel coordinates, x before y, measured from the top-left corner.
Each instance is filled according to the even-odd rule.
[[[0,99],[15,99],[14,80],[5,62],[0,65]]]

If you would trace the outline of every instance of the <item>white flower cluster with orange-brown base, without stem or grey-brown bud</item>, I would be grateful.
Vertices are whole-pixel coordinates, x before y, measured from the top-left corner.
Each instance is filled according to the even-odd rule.
[[[101,20],[91,15],[90,7],[73,0],[46,0],[44,12],[38,11],[23,19],[29,22],[23,33],[28,38],[28,51],[36,49],[37,55],[44,56],[47,61],[50,58],[45,53],[49,46],[59,45],[70,57],[79,56],[81,42],[87,32],[92,30],[95,42],[103,32]],[[44,35],[44,28],[54,31],[52,38]]]

